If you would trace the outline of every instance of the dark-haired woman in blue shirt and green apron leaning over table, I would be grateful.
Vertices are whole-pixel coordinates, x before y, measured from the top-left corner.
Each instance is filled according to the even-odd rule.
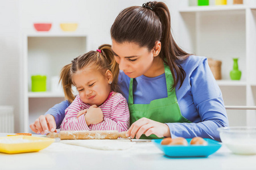
[[[228,126],[220,88],[207,58],[184,52],[174,41],[170,11],[163,2],[125,8],[110,32],[121,70],[118,83],[129,103],[127,137],[220,141],[217,128]],[[67,101],[55,105],[40,119],[55,130],[67,105]],[[31,125],[34,131],[48,130],[46,123],[35,123]]]

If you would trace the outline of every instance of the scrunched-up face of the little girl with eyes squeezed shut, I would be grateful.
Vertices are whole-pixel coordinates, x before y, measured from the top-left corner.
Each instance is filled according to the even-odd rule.
[[[79,92],[80,99],[89,105],[97,106],[104,103],[111,91],[112,73],[107,70],[105,75],[96,69],[77,71],[72,77]]]

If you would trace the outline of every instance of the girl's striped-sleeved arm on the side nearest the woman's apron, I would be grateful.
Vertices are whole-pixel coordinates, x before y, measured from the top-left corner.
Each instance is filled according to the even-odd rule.
[[[112,114],[110,114],[109,117],[104,117],[104,121],[91,126],[92,130],[117,130],[122,132],[127,131],[129,128],[129,122],[130,113],[128,104],[126,99],[122,96],[122,99],[114,106]]]

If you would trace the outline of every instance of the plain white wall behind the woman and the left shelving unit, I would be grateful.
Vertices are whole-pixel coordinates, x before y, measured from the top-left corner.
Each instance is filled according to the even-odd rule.
[[[0,105],[13,105],[15,132],[19,132],[20,105],[20,59],[24,33],[36,32],[33,23],[53,23],[51,32],[60,32],[59,23],[77,22],[77,32],[90,38],[90,49],[111,43],[110,27],[118,13],[129,6],[142,6],[141,0],[0,0]],[[177,29],[178,1],[163,1],[171,10],[172,31]],[[175,35],[174,35],[175,36]]]

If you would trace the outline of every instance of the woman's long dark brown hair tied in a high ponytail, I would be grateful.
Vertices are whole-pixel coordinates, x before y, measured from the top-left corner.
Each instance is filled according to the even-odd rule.
[[[176,87],[185,79],[185,71],[180,63],[190,54],[184,52],[174,41],[171,34],[171,16],[163,2],[147,2],[143,7],[132,6],[122,10],[111,27],[111,37],[116,42],[134,42],[152,50],[156,41],[162,44],[159,56],[170,67]],[[176,75],[175,75],[176,74]]]

